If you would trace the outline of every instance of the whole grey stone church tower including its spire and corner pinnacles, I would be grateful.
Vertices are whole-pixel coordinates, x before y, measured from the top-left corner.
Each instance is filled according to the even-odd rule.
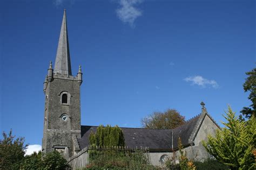
[[[60,30],[55,67],[52,62],[44,81],[45,110],[42,151],[63,152],[66,159],[79,151],[77,138],[81,137],[80,85],[82,70],[79,66],[72,76],[69,53],[66,11]]]

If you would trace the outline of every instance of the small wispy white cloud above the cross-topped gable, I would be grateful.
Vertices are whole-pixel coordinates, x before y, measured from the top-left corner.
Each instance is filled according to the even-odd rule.
[[[197,76],[191,76],[191,77],[186,77],[184,79],[186,82],[192,82],[191,85],[198,85],[200,87],[206,87],[206,86],[210,86],[213,88],[218,88],[219,85],[215,80],[208,80],[205,79],[204,77],[197,75]]]

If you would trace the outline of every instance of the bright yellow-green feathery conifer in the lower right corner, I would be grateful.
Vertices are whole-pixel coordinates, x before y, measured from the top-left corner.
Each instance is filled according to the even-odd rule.
[[[203,142],[206,150],[231,169],[255,169],[256,124],[252,117],[239,121],[230,107],[224,116],[225,128],[217,130],[215,137]]]

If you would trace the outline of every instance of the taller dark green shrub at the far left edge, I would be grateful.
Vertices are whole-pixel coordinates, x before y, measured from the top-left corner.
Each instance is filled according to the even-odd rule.
[[[3,139],[0,140],[0,169],[18,169],[26,147],[23,137],[16,138],[12,130],[8,134],[3,132]]]

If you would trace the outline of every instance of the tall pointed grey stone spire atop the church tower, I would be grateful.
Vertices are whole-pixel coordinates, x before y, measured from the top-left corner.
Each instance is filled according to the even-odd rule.
[[[66,25],[66,10],[64,10],[62,19],[62,28],[60,29],[59,43],[55,60],[53,73],[72,75],[71,62],[69,54],[68,28]]]

